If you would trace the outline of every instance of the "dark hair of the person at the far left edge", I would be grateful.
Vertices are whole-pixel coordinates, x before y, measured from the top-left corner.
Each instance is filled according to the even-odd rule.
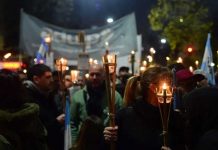
[[[23,85],[17,73],[0,70],[0,108],[18,108],[23,103]]]

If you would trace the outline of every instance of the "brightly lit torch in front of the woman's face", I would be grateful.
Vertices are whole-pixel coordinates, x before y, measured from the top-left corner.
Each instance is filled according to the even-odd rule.
[[[163,83],[162,86],[156,89],[156,95],[163,127],[163,146],[168,147],[168,122],[172,102],[172,89],[166,83]]]

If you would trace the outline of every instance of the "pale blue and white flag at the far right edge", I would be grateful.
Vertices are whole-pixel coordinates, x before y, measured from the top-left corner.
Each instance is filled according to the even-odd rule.
[[[204,56],[201,64],[201,70],[205,72],[208,83],[210,85],[215,85],[215,76],[214,76],[214,68],[213,68],[213,54],[210,45],[210,33],[207,36],[207,43],[205,46]]]

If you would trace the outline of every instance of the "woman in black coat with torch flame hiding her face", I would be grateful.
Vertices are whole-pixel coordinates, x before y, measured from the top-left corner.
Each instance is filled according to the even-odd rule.
[[[167,146],[163,144],[161,113],[156,95],[157,88],[163,82],[171,86],[171,78],[172,75],[168,68],[148,68],[139,81],[136,80],[135,90],[131,91],[134,95],[131,105],[124,107],[117,113],[117,126],[104,129],[105,140],[116,141],[118,150],[175,149],[170,134],[170,144]],[[126,94],[129,93],[125,91],[124,97]]]

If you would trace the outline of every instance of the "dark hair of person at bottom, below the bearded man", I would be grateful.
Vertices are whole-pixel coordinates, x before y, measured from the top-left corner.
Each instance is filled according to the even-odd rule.
[[[97,116],[89,116],[82,124],[75,150],[93,150],[103,147],[103,123]]]

